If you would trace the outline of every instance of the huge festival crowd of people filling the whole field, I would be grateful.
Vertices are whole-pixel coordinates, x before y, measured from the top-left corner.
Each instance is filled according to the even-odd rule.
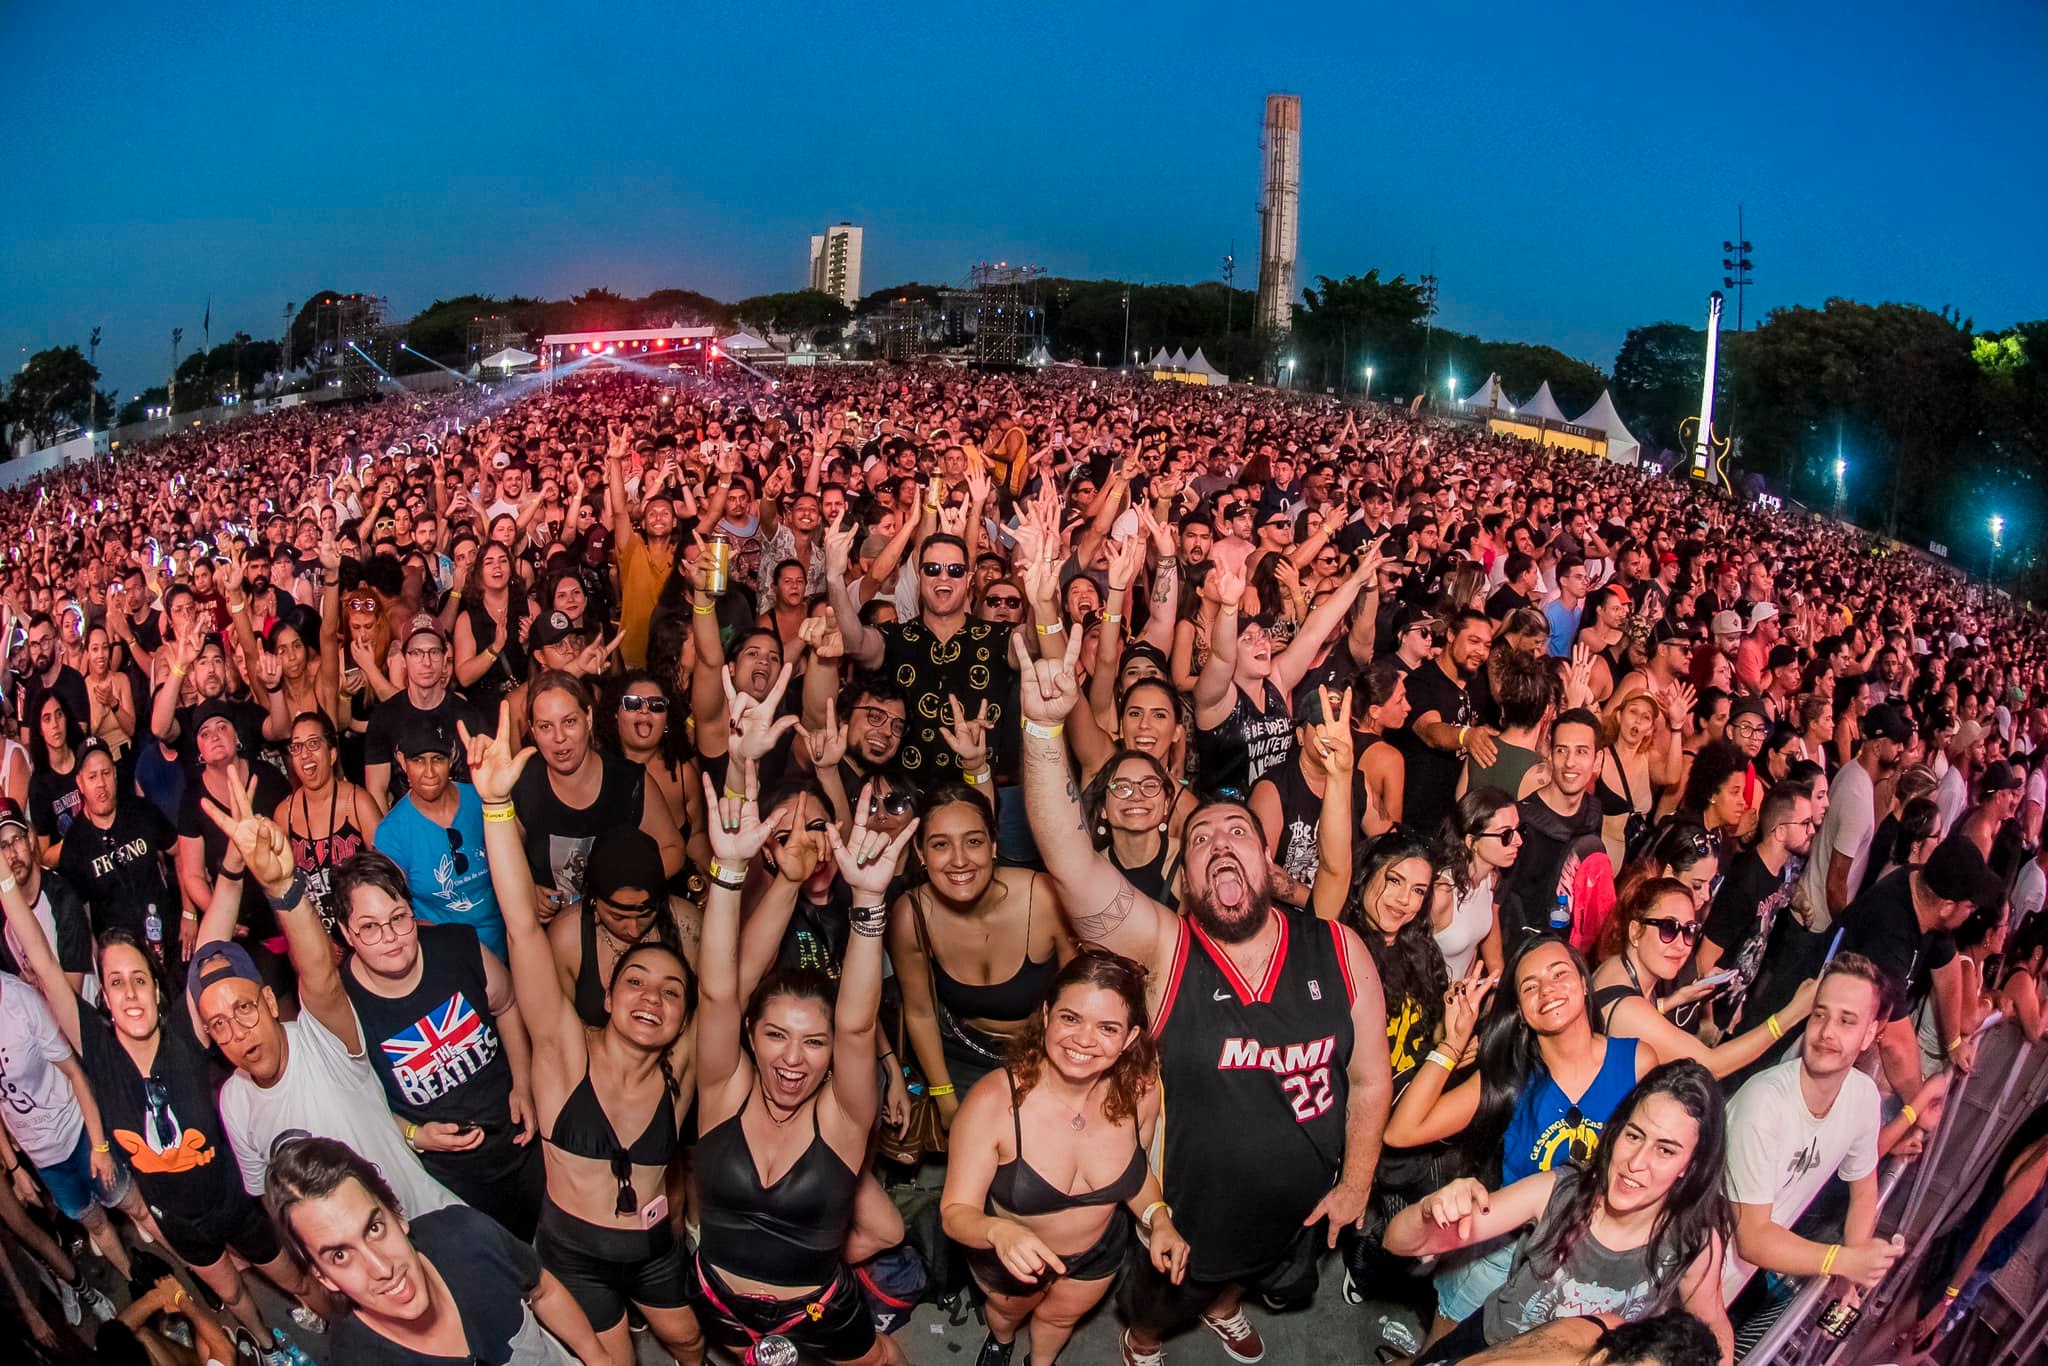
[[[53,1358],[104,1260],[168,1360],[872,1366],[965,1286],[977,1366],[1255,1362],[1333,1276],[1380,1360],[1731,1362],[1886,1276],[1880,1159],[2044,1028],[2038,618],[1473,424],[586,369],[178,434],[0,543]]]

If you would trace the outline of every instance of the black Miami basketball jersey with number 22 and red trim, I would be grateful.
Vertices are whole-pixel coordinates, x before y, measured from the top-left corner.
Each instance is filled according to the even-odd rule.
[[[1274,913],[1280,940],[1257,987],[1184,920],[1153,1024],[1161,1184],[1194,1280],[1237,1280],[1278,1262],[1343,1165],[1354,1038],[1341,928]]]

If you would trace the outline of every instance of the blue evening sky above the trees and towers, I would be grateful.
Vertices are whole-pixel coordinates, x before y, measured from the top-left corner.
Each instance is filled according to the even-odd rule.
[[[1612,367],[1692,322],[1747,205],[1749,317],[1831,295],[2048,315],[2048,8],[1667,4],[0,4],[0,356],[109,383],[313,289],[864,289],[977,258],[1257,260],[1303,96],[1303,281],[1436,252],[1446,326]],[[1731,299],[1733,305],[1733,299]]]

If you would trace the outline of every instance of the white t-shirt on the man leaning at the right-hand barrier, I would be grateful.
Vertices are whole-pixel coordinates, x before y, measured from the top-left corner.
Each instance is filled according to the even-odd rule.
[[[1798,1085],[1800,1055],[1759,1071],[1729,1102],[1729,1165],[1724,1186],[1737,1204],[1769,1204],[1772,1223],[1790,1229],[1827,1178],[1860,1182],[1878,1169],[1878,1083],[1849,1069],[1841,1094],[1821,1118]],[[1726,1300],[1757,1270],[1729,1243],[1720,1276]]]

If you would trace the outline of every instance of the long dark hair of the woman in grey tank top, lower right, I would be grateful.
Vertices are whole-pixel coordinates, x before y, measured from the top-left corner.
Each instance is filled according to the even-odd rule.
[[[1651,1096],[1669,1096],[1700,1124],[1700,1141],[1692,1149],[1692,1161],[1665,1192],[1657,1208],[1657,1223],[1651,1227],[1651,1288],[1655,1309],[1665,1309],[1677,1298],[1679,1282],[1694,1260],[1716,1245],[1726,1247],[1735,1235],[1735,1216],[1720,1186],[1729,1147],[1726,1104],[1714,1073],[1692,1059],[1653,1067],[1632,1092],[1622,1096],[1622,1104],[1608,1120],[1606,1141],[1593,1153],[1593,1165],[1579,1173],[1565,1208],[1550,1221],[1550,1227],[1530,1237],[1528,1257],[1538,1276],[1552,1276],[1571,1262],[1573,1249],[1593,1223],[1593,1210],[1608,1194],[1616,1137]]]

